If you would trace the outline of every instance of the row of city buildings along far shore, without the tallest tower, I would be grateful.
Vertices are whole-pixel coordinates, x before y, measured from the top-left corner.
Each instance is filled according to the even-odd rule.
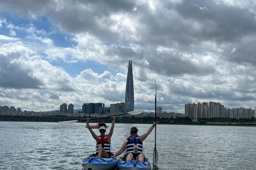
[[[209,105],[208,105],[209,104]],[[90,106],[91,105],[91,106]],[[95,105],[95,106],[94,106]],[[96,107],[97,105],[97,107]],[[100,107],[99,107],[99,106]],[[84,108],[85,106],[85,108]],[[86,106],[89,109],[86,109]],[[68,107],[68,108],[67,108]],[[102,108],[101,108],[102,107]],[[92,109],[93,108],[93,109]],[[14,113],[15,111],[18,111],[17,113],[22,114],[21,108],[16,109],[14,106],[11,106],[10,108],[8,106],[1,106],[0,105],[0,114],[3,114],[6,112],[6,109],[9,109],[10,113]],[[73,109],[73,112],[70,112],[70,109]],[[98,110],[97,110],[98,109]],[[84,104],[82,106],[82,112],[74,113],[74,105],[73,104],[61,104],[60,109],[54,110],[52,112],[57,113],[57,115],[62,115],[62,116],[73,116],[76,115],[78,117],[84,117],[87,116],[89,117],[90,115],[93,116],[99,116],[99,115],[107,115],[108,113],[124,113],[125,112],[125,104],[124,103],[116,103],[116,104],[110,104],[110,107],[105,107],[105,104],[103,103],[89,103],[89,104]],[[256,109],[256,107],[255,107]],[[188,116],[190,118],[209,118],[209,117],[226,117],[226,118],[251,118],[255,117],[256,118],[256,112],[255,109],[252,108],[226,108],[224,105],[218,102],[213,102],[210,101],[209,103],[203,102],[201,103],[188,103],[185,104],[185,113],[180,113],[180,112],[166,112],[162,110],[162,106],[157,106],[157,114],[160,117],[174,117],[176,116]],[[28,114],[32,114],[34,112],[26,111]],[[36,113],[36,112],[35,112]],[[38,113],[44,113],[44,112],[38,112]],[[154,112],[145,112],[147,113],[147,116],[153,116],[154,117]],[[50,115],[50,113],[46,113],[46,115]],[[143,114],[138,115],[140,116],[145,116]]]

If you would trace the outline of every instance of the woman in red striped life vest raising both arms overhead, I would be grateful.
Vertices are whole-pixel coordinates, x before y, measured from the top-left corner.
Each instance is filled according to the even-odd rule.
[[[93,132],[91,126],[89,125],[90,118],[86,119],[87,128],[91,132],[92,137],[97,142],[95,156],[98,156],[100,158],[110,158],[110,156],[113,155],[111,152],[110,141],[111,141],[111,137],[112,137],[114,126],[115,126],[115,118],[116,117],[114,115],[111,115],[111,117],[113,118],[113,121],[112,121],[112,125],[111,125],[109,133],[106,134],[106,124],[100,123],[99,124],[99,126],[100,126],[100,128],[99,128],[100,135],[99,136]]]

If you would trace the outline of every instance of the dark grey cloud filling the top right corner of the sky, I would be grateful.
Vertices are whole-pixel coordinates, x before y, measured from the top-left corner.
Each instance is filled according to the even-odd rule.
[[[193,35],[199,41],[217,42],[223,49],[222,57],[230,62],[256,64],[256,19],[250,8],[226,6],[214,1],[184,1],[175,9],[184,19],[203,24],[202,29],[187,34],[188,37]]]

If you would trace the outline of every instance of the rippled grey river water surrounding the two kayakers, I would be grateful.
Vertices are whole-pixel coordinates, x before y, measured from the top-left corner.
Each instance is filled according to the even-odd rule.
[[[114,152],[132,126],[140,135],[151,124],[116,123],[111,138]],[[154,132],[143,141],[151,164]],[[95,143],[85,123],[0,122],[0,169],[82,170],[82,160],[94,152]],[[153,169],[256,169],[255,146],[256,127],[158,124],[159,162]]]

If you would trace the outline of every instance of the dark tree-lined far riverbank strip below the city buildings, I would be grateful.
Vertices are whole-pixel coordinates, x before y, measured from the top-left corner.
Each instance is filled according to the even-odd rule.
[[[209,125],[209,126],[256,126],[256,122],[251,118],[245,121],[236,120],[234,118],[228,119],[226,118],[225,122],[220,122],[218,118],[216,122],[212,121],[207,122],[206,120],[194,121],[189,117],[177,117],[177,118],[159,118],[157,117],[158,124],[174,124],[174,125]],[[74,121],[74,120],[85,120],[85,117],[66,117],[66,116],[16,116],[16,115],[0,115],[0,121],[5,122],[59,122],[59,121]],[[231,121],[232,120],[232,121]],[[95,120],[91,120],[90,123],[97,123],[98,121],[111,123],[111,117],[99,117]],[[153,124],[155,121],[155,117],[119,117],[116,116],[116,123],[129,123],[129,124]],[[222,119],[222,121],[224,121]]]

